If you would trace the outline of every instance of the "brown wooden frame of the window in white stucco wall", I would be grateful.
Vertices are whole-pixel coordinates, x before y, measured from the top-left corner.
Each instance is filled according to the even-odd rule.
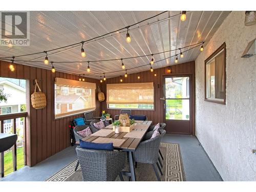
[[[213,100],[207,98],[207,62],[211,59],[215,58],[221,51],[223,50],[224,54],[224,99],[223,101],[220,100]],[[214,102],[219,104],[226,104],[226,43],[224,42],[214,53],[212,53],[205,61],[204,61],[204,100],[208,102]]]

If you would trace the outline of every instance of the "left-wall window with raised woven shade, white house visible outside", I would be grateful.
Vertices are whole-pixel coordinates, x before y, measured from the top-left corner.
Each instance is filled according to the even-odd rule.
[[[55,78],[55,118],[95,110],[95,90],[95,83]]]

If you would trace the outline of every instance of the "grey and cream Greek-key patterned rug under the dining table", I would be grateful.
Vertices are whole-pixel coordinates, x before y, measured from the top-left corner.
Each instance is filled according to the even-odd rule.
[[[161,181],[185,181],[179,144],[161,143],[160,150],[164,157],[164,160],[162,161],[163,176],[159,173]],[[46,181],[82,181],[80,166],[78,166],[76,172],[74,171],[76,163],[77,160],[71,162]],[[129,165],[126,163],[124,170],[127,170],[128,168]],[[153,167],[150,164],[138,163],[137,168],[135,168],[135,175],[137,181],[157,181]],[[128,181],[129,177],[124,176],[124,180]],[[116,178],[116,181],[120,181],[119,177]]]

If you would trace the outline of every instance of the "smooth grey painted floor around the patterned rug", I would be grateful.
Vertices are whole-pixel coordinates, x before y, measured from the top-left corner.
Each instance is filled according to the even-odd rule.
[[[196,137],[166,134],[162,142],[180,144],[186,181],[222,181]],[[75,146],[68,147],[33,167],[20,168],[0,181],[44,181],[76,158]]]

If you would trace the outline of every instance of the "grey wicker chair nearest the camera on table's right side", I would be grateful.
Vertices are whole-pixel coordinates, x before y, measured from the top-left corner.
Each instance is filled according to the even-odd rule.
[[[161,181],[158,174],[158,170],[157,170],[157,167],[158,167],[160,174],[163,175],[162,170],[158,164],[158,159],[159,159],[158,151],[159,151],[161,139],[165,134],[165,130],[159,130],[159,132],[160,132],[159,136],[142,141],[139,144],[139,146],[136,148],[134,152],[134,161],[138,163],[152,164],[157,180]],[[150,136],[150,133],[147,133],[146,137],[149,137],[149,136]]]

